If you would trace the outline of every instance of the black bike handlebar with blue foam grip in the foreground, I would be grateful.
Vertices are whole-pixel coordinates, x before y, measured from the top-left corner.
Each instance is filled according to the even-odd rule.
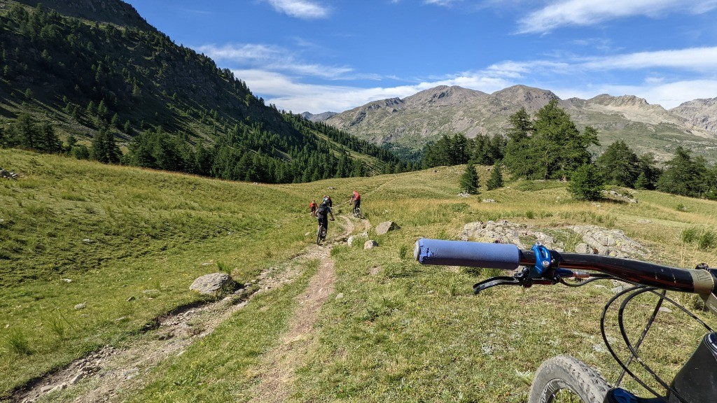
[[[550,250],[550,267],[604,272],[630,283],[663,290],[709,295],[716,289],[717,270],[686,270],[654,263],[602,255],[583,255]],[[490,267],[513,270],[536,265],[534,250],[516,245],[485,242],[432,240],[416,242],[414,257],[424,265]],[[543,266],[545,262],[543,262]]]

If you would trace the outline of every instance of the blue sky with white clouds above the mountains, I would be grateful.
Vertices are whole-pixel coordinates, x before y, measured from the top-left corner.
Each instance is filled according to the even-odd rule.
[[[294,113],[437,85],[717,97],[717,0],[125,1]]]

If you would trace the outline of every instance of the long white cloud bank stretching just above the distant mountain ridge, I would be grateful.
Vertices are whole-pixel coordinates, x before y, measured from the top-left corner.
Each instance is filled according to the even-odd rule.
[[[359,87],[353,85],[309,84],[305,77],[322,79],[356,78],[348,67],[326,67],[298,64],[285,50],[263,45],[231,47],[204,47],[211,57],[228,60],[244,60],[244,67],[234,74],[247,82],[252,91],[278,108],[300,113],[308,110],[321,113],[328,110],[341,112],[374,100],[406,98],[437,85],[461,87],[493,93],[516,84],[528,84],[552,90],[560,98],[592,98],[601,93],[610,95],[637,95],[652,104],[674,108],[695,98],[713,98],[717,95],[717,80],[711,72],[717,70],[717,47],[673,49],[657,52],[617,54],[612,57],[572,57],[556,60],[527,60],[495,63],[483,70],[457,72],[453,75],[435,77],[411,85],[394,87]],[[252,60],[253,62],[247,62]],[[284,64],[282,65],[282,62]],[[668,79],[660,69],[707,72],[693,80]],[[610,80],[611,71],[645,70],[642,83],[616,85]],[[606,77],[602,81],[601,77]],[[367,78],[367,77],[361,77]],[[371,79],[401,80],[400,77],[368,77]],[[587,80],[586,80],[587,78]],[[561,84],[567,83],[567,84]]]

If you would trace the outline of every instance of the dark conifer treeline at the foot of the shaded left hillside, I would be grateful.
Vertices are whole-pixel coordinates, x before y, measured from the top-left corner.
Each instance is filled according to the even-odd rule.
[[[260,125],[252,130],[234,128],[213,145],[191,146],[160,127],[139,133],[129,143],[128,153],[120,151],[109,128],[102,128],[92,138],[90,147],[77,143],[69,136],[63,144],[52,125],[36,123],[30,115],[22,114],[10,125],[0,128],[0,146],[25,148],[41,153],[65,153],[79,159],[103,163],[123,163],[151,169],[178,171],[212,176],[220,179],[290,183],[346,178],[371,174],[366,164],[338,153],[331,144],[314,135],[303,144],[275,138],[262,131]],[[277,150],[282,144],[288,151]],[[386,156],[394,161],[391,156]]]

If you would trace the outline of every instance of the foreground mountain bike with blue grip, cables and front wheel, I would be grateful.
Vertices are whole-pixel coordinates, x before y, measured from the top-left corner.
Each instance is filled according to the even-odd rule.
[[[701,296],[706,309],[717,315],[717,269],[705,264],[695,270],[685,270],[653,263],[628,260],[602,255],[584,255],[579,253],[556,252],[540,243],[531,250],[520,250],[516,245],[484,242],[464,242],[448,240],[421,239],[416,242],[414,257],[424,265],[450,265],[469,267],[490,267],[503,270],[515,270],[512,276],[497,276],[473,285],[474,293],[496,285],[518,285],[524,288],[531,285],[563,284],[581,287],[594,280],[613,279],[633,285],[614,295],[604,306],[600,318],[602,339],[612,358],[622,367],[611,387],[595,370],[571,356],[555,356],[543,361],[536,371],[528,394],[528,403],[550,402],[597,402],[597,403],[708,403],[717,402],[717,333],[689,310],[666,296],[667,291],[695,293]],[[569,282],[571,280],[571,282]],[[652,312],[642,334],[633,341],[625,330],[625,308],[638,296],[652,293],[657,295],[655,310]],[[619,357],[606,333],[608,310],[614,308],[616,301],[622,300],[618,309],[618,325],[622,339],[630,351],[627,360]],[[645,340],[650,326],[655,321],[663,302],[667,301],[690,318],[698,321],[706,331],[697,349],[678,371],[669,384],[640,358],[639,349]],[[660,393],[635,371],[630,364],[637,363],[652,379],[664,389]],[[635,379],[655,397],[637,397],[619,384],[625,374]],[[655,383],[653,382],[653,384]]]

